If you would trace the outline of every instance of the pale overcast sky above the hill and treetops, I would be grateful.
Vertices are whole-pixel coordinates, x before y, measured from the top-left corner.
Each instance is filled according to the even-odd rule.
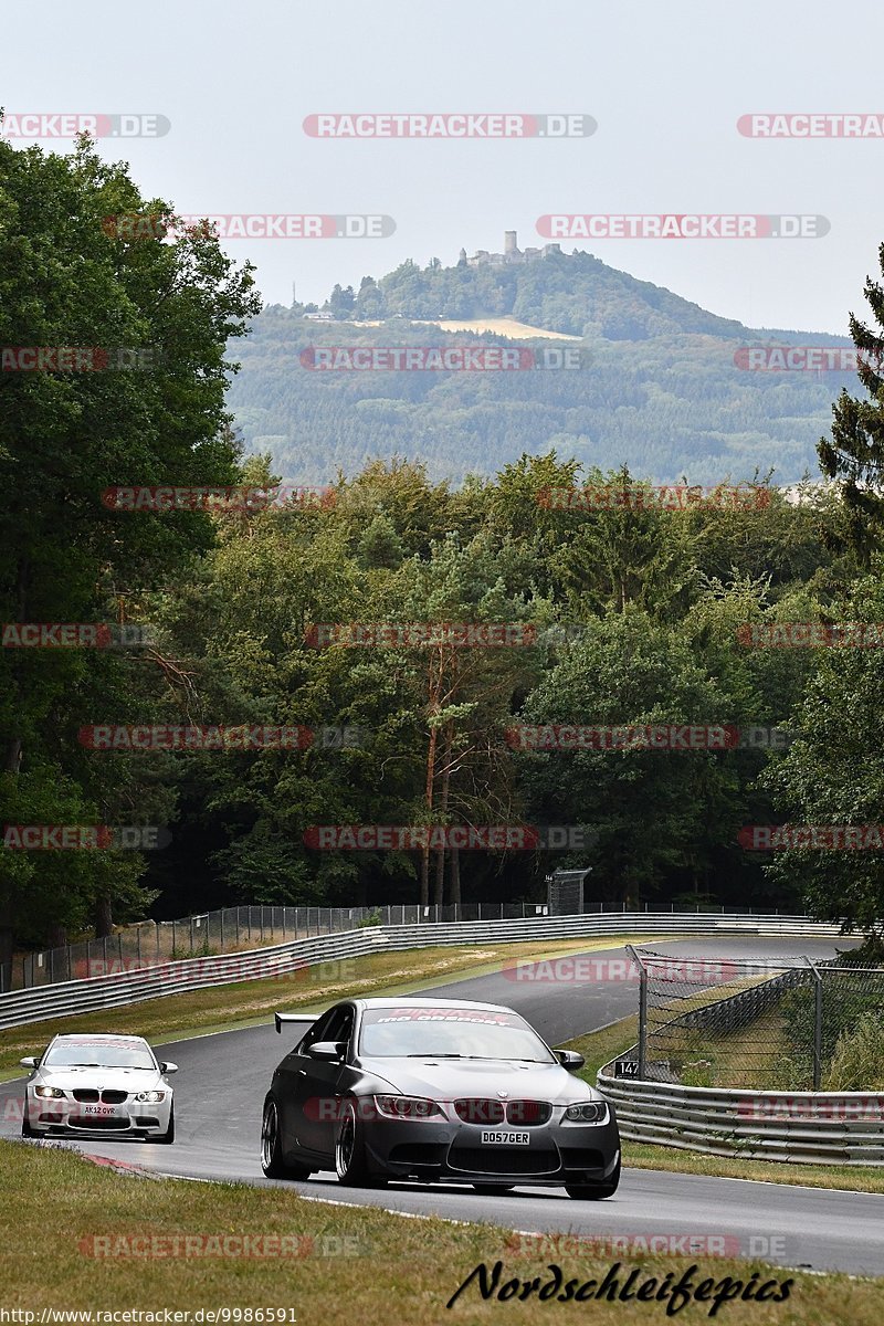
[[[884,139],[742,137],[753,111],[884,119],[884,13],[824,0],[42,0],[7,4],[0,105],[154,113],[125,158],[186,213],[383,213],[387,239],[229,240],[268,302],[322,300],[404,259],[541,244],[550,212],[810,213],[804,240],[580,240],[614,267],[751,326],[846,332],[884,240]],[[591,137],[342,141],[333,111],[582,113]],[[45,146],[53,146],[46,143]],[[68,150],[69,141],[56,142]]]

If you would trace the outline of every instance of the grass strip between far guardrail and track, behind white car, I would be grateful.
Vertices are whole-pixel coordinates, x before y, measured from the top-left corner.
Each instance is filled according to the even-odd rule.
[[[676,937],[676,936],[672,936]],[[302,967],[288,976],[239,981],[188,994],[170,994],[98,1013],[30,1022],[0,1032],[0,1081],[20,1077],[19,1059],[36,1054],[52,1036],[65,1032],[119,1032],[144,1036],[156,1045],[231,1026],[266,1022],[274,1009],[327,1006],[350,994],[414,994],[451,980],[486,976],[520,959],[542,960],[644,943],[618,936],[604,939],[531,940],[524,944],[464,944],[367,953]]]

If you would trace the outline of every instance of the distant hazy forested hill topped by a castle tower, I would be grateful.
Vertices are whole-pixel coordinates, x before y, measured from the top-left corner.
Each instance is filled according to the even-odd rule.
[[[243,363],[229,403],[249,451],[272,451],[286,480],[323,483],[367,460],[423,460],[433,479],[493,473],[524,451],[554,446],[602,468],[628,463],[665,483],[709,484],[775,468],[775,483],[816,473],[852,373],[759,373],[738,366],[758,345],[842,345],[846,337],[759,330],[708,313],[671,290],[607,267],[590,253],[553,253],[518,267],[419,268],[364,277],[335,290],[333,321],[302,305],[270,305],[232,353]],[[445,333],[428,320],[513,318],[537,339]],[[374,325],[367,325],[368,322]],[[378,325],[379,324],[379,325]],[[497,322],[492,322],[497,326]],[[559,342],[580,367],[527,371],[318,371],[310,347],[509,346]],[[319,355],[319,359],[322,355]],[[378,355],[375,355],[378,358]],[[380,355],[383,358],[383,355]]]

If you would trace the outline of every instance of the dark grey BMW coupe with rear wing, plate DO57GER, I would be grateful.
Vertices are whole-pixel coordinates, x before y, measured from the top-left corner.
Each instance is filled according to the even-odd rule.
[[[429,998],[353,998],[300,1022],[264,1102],[270,1177],[337,1171],[341,1183],[448,1179],[480,1192],[517,1184],[610,1197],[620,1179],[611,1106],[573,1077],[509,1008]],[[309,1024],[305,1029],[304,1024]]]

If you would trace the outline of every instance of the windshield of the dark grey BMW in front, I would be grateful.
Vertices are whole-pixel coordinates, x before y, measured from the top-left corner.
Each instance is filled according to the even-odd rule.
[[[517,1013],[476,1008],[376,1008],[363,1014],[362,1054],[376,1058],[437,1055],[555,1063]]]

